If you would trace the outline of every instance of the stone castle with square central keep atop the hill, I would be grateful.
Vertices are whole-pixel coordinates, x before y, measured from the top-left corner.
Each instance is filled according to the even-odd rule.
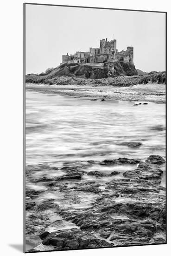
[[[128,46],[127,50],[120,51],[116,49],[116,39],[100,40],[100,48],[89,48],[89,52],[76,52],[76,54],[63,55],[62,63],[69,61],[71,63],[104,63],[104,62],[126,62],[133,64],[133,47]]]

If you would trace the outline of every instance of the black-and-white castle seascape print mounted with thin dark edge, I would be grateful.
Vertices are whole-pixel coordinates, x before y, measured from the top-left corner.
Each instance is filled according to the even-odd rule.
[[[166,243],[166,13],[24,4],[25,252]]]

